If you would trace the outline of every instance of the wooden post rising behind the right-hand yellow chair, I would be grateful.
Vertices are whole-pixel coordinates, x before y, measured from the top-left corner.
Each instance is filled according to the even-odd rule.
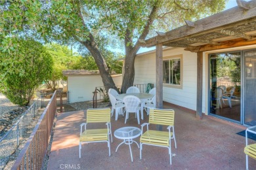
[[[156,108],[163,109],[163,44],[156,44]],[[162,130],[160,125],[157,130]]]

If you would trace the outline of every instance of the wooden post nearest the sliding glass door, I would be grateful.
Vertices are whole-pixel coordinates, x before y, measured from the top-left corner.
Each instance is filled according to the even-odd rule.
[[[198,76],[197,76],[197,96],[196,96],[196,117],[202,119],[202,104],[203,104],[203,52],[197,52],[198,54]]]

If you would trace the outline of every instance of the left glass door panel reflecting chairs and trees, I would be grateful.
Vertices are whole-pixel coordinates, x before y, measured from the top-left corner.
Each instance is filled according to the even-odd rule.
[[[256,60],[255,60],[256,61]],[[209,56],[209,112],[241,121],[241,52]]]

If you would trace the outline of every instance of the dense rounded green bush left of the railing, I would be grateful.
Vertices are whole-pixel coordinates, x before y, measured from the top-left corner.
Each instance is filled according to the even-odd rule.
[[[51,76],[53,58],[37,41],[12,41],[18,44],[15,52],[0,52],[0,88],[12,103],[29,105],[35,88]]]

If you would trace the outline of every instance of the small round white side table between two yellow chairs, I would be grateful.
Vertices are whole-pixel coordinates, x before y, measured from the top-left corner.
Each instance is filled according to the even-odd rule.
[[[115,137],[117,139],[123,139],[123,142],[117,146],[116,152],[121,144],[123,144],[123,143],[129,144],[130,153],[131,153],[131,161],[133,161],[133,154],[131,152],[131,144],[133,142],[135,142],[137,144],[138,148],[140,148],[139,144],[136,141],[133,141],[133,139],[135,139],[136,137],[139,137],[140,134],[141,134],[141,130],[138,127],[127,126],[127,127],[121,127],[119,129],[116,129],[116,131],[114,132]]]

